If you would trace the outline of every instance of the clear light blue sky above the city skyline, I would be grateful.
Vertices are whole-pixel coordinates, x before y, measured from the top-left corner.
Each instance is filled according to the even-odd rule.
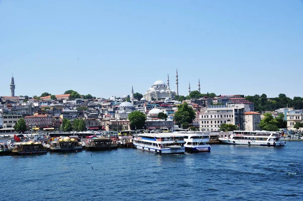
[[[0,0],[0,95],[303,96],[303,1]]]

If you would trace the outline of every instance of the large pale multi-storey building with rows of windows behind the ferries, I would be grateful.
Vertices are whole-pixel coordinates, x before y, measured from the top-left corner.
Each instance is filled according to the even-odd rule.
[[[200,131],[218,131],[223,123],[237,125],[242,130],[243,114],[244,107],[209,106],[200,112]]]

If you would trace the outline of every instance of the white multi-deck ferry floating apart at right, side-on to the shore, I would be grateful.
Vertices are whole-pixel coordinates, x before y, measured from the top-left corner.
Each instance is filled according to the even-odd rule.
[[[220,141],[228,144],[283,146],[285,140],[281,132],[276,131],[233,131],[229,137],[220,137]]]

